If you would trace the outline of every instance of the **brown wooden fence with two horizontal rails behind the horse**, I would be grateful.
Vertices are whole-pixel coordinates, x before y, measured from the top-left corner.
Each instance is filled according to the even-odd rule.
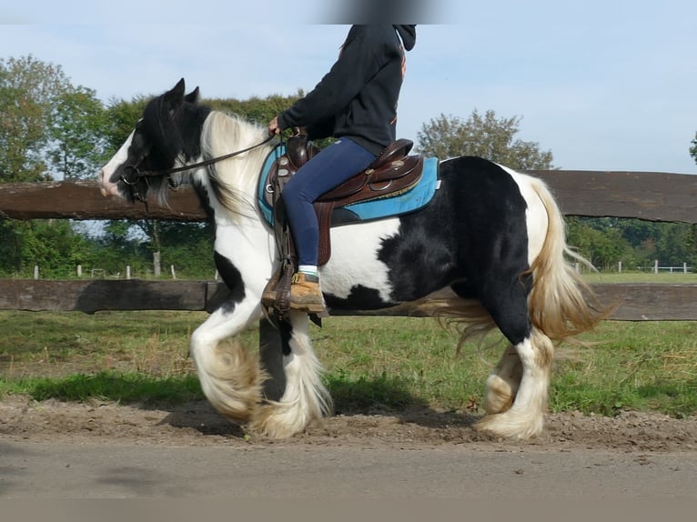
[[[561,210],[572,216],[637,217],[697,223],[697,176],[653,172],[533,171],[550,186]],[[99,194],[96,182],[0,185],[0,219],[168,219],[200,221],[194,192],[181,188],[169,206],[126,205]],[[211,253],[212,255],[212,253]],[[617,320],[697,320],[697,284],[596,284],[605,303],[619,303]],[[216,281],[0,279],[5,310],[206,310],[227,296]],[[409,307],[343,315],[408,316]]]

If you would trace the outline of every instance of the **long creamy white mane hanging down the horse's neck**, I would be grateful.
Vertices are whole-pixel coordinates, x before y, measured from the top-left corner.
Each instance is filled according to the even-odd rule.
[[[266,132],[265,127],[239,115],[212,111],[201,132],[201,152],[205,158],[223,156],[261,143]],[[233,216],[253,215],[259,171],[271,147],[273,145],[258,146],[208,167],[215,196]]]

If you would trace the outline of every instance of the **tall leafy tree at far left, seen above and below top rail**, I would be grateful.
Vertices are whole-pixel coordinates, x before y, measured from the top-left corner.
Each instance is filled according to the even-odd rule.
[[[105,108],[59,65],[28,55],[0,59],[0,183],[94,176],[104,159]],[[89,262],[86,238],[68,221],[0,223],[0,271],[68,275]],[[61,266],[61,268],[58,268]]]

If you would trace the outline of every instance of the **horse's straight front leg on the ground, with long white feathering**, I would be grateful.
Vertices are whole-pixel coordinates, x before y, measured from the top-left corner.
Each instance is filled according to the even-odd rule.
[[[308,324],[307,314],[291,312],[289,324],[279,326],[289,348],[283,355],[285,391],[280,400],[260,407],[251,424],[268,437],[292,437],[331,413],[331,397],[322,384],[322,367],[310,343]]]

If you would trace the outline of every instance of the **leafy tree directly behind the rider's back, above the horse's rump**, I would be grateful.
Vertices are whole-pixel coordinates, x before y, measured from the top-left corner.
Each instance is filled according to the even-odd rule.
[[[421,126],[417,148],[441,159],[481,156],[520,170],[552,168],[551,151],[540,151],[535,142],[515,139],[520,120],[519,116],[497,119],[494,111],[482,116],[476,109],[467,121],[441,114]]]

